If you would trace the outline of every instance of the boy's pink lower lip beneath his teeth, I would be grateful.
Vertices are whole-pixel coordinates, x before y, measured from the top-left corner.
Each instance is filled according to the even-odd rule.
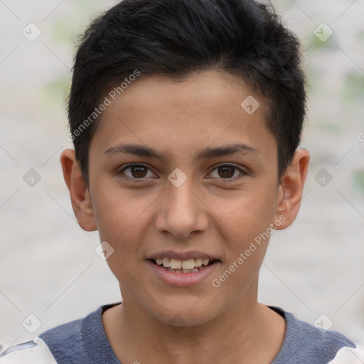
[[[205,268],[200,269],[198,272],[178,273],[164,269],[163,266],[154,264],[151,260],[147,260],[146,263],[157,278],[164,283],[171,284],[176,287],[196,286],[196,284],[200,284],[207,279],[208,276],[220,265],[220,262],[215,261],[212,264],[208,264]]]

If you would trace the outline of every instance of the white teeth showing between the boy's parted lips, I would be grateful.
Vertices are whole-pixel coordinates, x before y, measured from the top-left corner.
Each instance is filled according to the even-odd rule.
[[[191,274],[200,272],[208,266],[220,262],[219,259],[209,258],[191,258],[191,259],[173,259],[168,257],[160,257],[149,259],[153,264],[166,269],[168,272]]]

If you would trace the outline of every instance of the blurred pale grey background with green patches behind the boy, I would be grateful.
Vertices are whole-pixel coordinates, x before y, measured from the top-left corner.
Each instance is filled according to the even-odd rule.
[[[0,1],[0,352],[121,299],[59,162],[75,39],[114,4]],[[296,222],[272,235],[259,301],[364,345],[364,1],[272,4],[302,42],[311,165]]]

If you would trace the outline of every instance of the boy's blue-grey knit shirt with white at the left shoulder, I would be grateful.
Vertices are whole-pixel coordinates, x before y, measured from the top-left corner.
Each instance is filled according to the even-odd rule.
[[[102,326],[102,313],[112,306],[114,304],[100,306],[84,319],[64,323],[41,333],[37,338],[38,341],[28,341],[9,348],[1,355],[0,364],[18,363],[17,351],[23,354],[22,358],[26,358],[24,355],[26,350],[30,353],[31,348],[34,349],[39,345],[46,348],[50,357],[53,356],[55,359],[53,363],[121,364]],[[341,348],[355,348],[352,341],[337,331],[323,332],[309,323],[296,319],[293,314],[279,307],[269,306],[269,308],[283,316],[287,322],[284,343],[272,364],[327,364],[336,357]],[[14,361],[11,361],[12,353]],[[31,364],[33,361],[21,363]],[[49,358],[44,363],[50,363]]]

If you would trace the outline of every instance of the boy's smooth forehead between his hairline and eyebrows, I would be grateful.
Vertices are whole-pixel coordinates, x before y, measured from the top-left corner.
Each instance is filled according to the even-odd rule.
[[[194,156],[204,145],[225,142],[258,151],[276,147],[264,119],[264,100],[228,73],[203,71],[184,80],[141,77],[109,99],[91,143],[104,151],[124,141],[161,152],[166,146],[167,154],[167,146],[181,146]]]

